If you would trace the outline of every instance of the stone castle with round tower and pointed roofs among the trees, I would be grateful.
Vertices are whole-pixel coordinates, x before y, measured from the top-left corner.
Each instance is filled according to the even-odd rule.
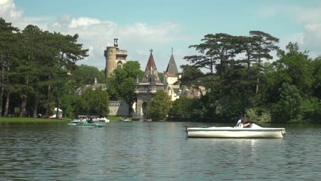
[[[114,39],[114,46],[107,47],[105,50],[106,57],[106,77],[110,77],[115,69],[121,69],[126,63],[128,52],[118,48],[117,38]],[[142,80],[139,80],[137,75],[134,92],[136,93],[136,101],[132,105],[132,120],[147,119],[146,108],[152,101],[156,90],[165,90],[171,100],[179,98],[180,84],[177,84],[180,78],[176,62],[171,49],[171,57],[167,65],[166,71],[163,72],[163,80],[158,77],[158,71],[152,49],[150,50],[150,57],[147,60],[144,75]]]

